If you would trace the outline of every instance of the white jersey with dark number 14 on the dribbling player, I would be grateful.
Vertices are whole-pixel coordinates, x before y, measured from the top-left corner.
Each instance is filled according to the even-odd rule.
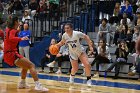
[[[84,38],[84,35],[84,33],[78,31],[73,31],[71,37],[68,36],[66,32],[63,34],[62,40],[66,41],[66,44],[68,44],[70,53],[79,55],[83,52],[83,47],[81,46],[79,39]]]

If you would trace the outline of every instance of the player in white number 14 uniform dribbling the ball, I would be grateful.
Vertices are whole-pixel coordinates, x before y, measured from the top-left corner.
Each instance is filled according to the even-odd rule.
[[[83,38],[87,41],[90,51],[93,52],[92,42],[90,38],[82,32],[73,31],[73,26],[71,23],[66,23],[64,27],[65,33],[62,36],[62,40],[57,44],[58,47],[68,44],[69,48],[69,58],[72,64],[71,75],[69,82],[74,83],[74,76],[78,71],[78,59],[84,64],[86,76],[87,76],[87,85],[91,85],[91,65],[88,62],[86,53],[84,52],[83,47],[81,46],[79,39]]]

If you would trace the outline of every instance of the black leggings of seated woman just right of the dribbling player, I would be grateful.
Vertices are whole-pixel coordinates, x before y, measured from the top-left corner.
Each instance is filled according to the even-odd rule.
[[[99,71],[99,64],[101,63],[110,63],[110,60],[106,57],[98,55],[95,60],[92,62],[91,66],[96,63],[96,71]]]

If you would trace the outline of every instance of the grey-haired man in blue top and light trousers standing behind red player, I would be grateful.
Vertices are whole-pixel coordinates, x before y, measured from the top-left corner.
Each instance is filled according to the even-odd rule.
[[[29,39],[31,37],[31,31],[29,30],[28,24],[24,24],[24,30],[19,32],[18,37],[22,38],[27,36]],[[29,48],[30,48],[30,40],[23,40],[19,42],[19,53],[21,55],[25,55],[27,59],[30,59],[29,57]]]

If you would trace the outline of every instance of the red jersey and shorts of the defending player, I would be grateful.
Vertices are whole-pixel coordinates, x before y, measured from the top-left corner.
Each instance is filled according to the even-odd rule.
[[[7,28],[6,37],[4,40],[4,62],[10,66],[14,65],[14,61],[17,58],[23,57],[17,51],[19,41],[21,41],[21,38],[18,37],[18,31]]]

